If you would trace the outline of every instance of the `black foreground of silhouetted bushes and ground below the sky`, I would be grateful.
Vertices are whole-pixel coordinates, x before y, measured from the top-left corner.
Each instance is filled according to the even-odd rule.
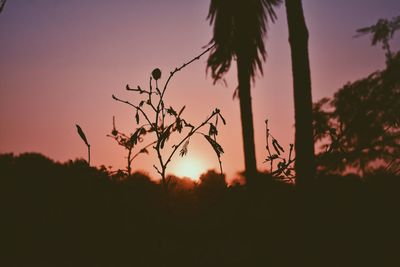
[[[1,266],[400,266],[400,177],[324,176],[307,192],[213,172],[175,179],[0,155]]]

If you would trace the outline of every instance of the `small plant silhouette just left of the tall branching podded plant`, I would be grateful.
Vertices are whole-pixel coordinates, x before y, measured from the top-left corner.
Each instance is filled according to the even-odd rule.
[[[149,154],[148,148],[156,143],[156,141],[154,141],[154,142],[142,147],[138,152],[133,153],[133,148],[137,144],[137,143],[135,143],[135,140],[137,140],[137,142],[139,142],[139,143],[143,141],[142,137],[137,138],[137,137],[133,136],[135,133],[132,133],[130,136],[128,136],[128,135],[118,131],[117,128],[115,127],[115,117],[113,117],[113,129],[111,131],[111,135],[107,135],[107,136],[113,138],[118,143],[118,145],[122,146],[123,148],[125,148],[128,151],[128,155],[126,157],[126,160],[127,160],[126,170],[117,170],[117,172],[123,171],[123,172],[126,172],[128,175],[131,175],[132,161],[141,154]]]

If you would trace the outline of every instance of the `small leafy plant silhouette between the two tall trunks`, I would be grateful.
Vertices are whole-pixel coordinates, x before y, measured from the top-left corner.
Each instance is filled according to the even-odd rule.
[[[268,156],[264,163],[269,163],[269,172],[274,178],[286,180],[289,182],[294,182],[294,167],[295,158],[292,158],[293,144],[289,145],[289,154],[287,158],[283,156],[285,150],[279,144],[278,140],[271,134],[268,127],[268,120],[265,120],[265,142]],[[271,149],[271,146],[273,150]],[[274,170],[274,162],[278,161],[276,164],[276,169]]]

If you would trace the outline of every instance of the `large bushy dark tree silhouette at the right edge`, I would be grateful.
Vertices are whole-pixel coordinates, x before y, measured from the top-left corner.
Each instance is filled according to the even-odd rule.
[[[389,48],[399,20],[379,20],[358,30],[373,33],[372,44],[383,42],[387,66],[346,84],[333,99],[314,104],[314,137],[320,142],[319,170],[342,172],[351,167],[363,174],[387,165],[397,171],[400,157],[400,53]],[[393,24],[393,25],[392,25]]]

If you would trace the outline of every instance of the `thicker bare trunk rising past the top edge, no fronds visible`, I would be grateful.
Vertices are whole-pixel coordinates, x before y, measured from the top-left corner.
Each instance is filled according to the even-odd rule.
[[[302,187],[311,182],[315,176],[308,30],[301,0],[286,0],[285,5],[292,56],[296,181]]]

